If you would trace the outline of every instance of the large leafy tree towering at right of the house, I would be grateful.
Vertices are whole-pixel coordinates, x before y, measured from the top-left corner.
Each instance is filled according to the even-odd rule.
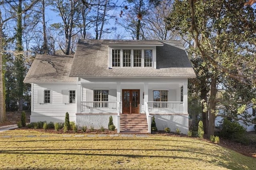
[[[232,75],[254,75],[256,64],[256,9],[244,7],[240,0],[221,1],[210,0],[194,3],[197,28],[200,30],[201,47],[210,57],[225,68]],[[202,112],[209,115],[204,122],[205,133],[208,137],[214,134],[216,104],[221,102],[216,98],[218,87],[222,79],[230,79],[232,75],[222,71],[210,61],[204,60],[201,52],[196,48],[194,37],[190,32],[191,14],[189,0],[175,0],[174,8],[167,24],[169,29],[186,39],[188,53],[192,60],[201,58],[194,69],[199,75],[201,100],[204,99]],[[190,43],[192,42],[192,43]],[[242,71],[241,73],[238,71]],[[233,77],[232,77],[233,78]],[[234,86],[231,86],[235,88]],[[230,88],[231,88],[230,87]]]

